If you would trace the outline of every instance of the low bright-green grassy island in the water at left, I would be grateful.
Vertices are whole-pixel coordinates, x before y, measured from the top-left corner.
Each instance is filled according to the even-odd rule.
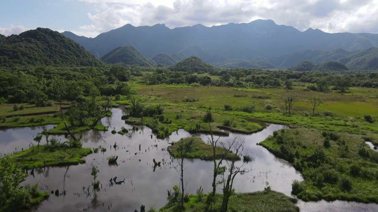
[[[34,146],[29,149],[16,152],[6,157],[13,163],[21,164],[23,168],[37,168],[43,166],[64,166],[85,163],[85,157],[92,153],[90,148],[61,147],[53,148],[53,144]]]

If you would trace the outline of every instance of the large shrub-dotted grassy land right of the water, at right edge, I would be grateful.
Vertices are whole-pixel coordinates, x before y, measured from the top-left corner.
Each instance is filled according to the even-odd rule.
[[[304,181],[294,181],[292,193],[304,201],[378,203],[378,152],[361,136],[283,129],[260,145],[302,172]]]

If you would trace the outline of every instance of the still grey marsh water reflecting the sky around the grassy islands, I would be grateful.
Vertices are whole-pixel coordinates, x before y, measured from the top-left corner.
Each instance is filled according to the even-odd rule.
[[[192,136],[184,130],[179,130],[166,139],[157,139],[151,129],[139,126],[138,131],[125,135],[112,134],[115,127],[117,131],[124,126],[132,126],[121,120],[122,110],[113,108],[112,117],[103,118],[103,124],[109,126],[109,131],[88,131],[82,133],[84,147],[105,147],[106,152],[98,152],[85,157],[87,163],[68,167],[46,167],[36,169],[34,176],[30,175],[26,183],[38,183],[42,190],[59,189],[60,194],[51,194],[37,209],[38,212],[64,212],[64,211],[95,211],[95,212],[132,212],[139,211],[142,204],[146,210],[153,206],[156,209],[167,203],[167,190],[180,183],[180,176],[175,171],[177,165],[172,160],[166,148],[172,141]],[[49,125],[47,128],[53,128]],[[254,192],[263,190],[266,181],[273,190],[290,195],[293,180],[303,180],[301,174],[286,161],[276,158],[265,148],[256,145],[265,140],[273,131],[285,126],[271,124],[261,132],[252,135],[230,134],[221,137],[220,141],[227,141],[237,136],[245,139],[244,155],[249,155],[252,161],[245,164],[247,173],[237,175],[234,188],[237,192]],[[9,154],[13,151],[29,148],[33,136],[42,131],[42,127],[16,128],[0,131],[0,154]],[[151,138],[152,135],[152,138]],[[198,134],[204,141],[208,135]],[[65,140],[64,136],[58,137]],[[43,141],[43,139],[42,139]],[[113,145],[117,143],[118,147]],[[140,151],[139,151],[140,144]],[[16,149],[17,148],[17,149]],[[107,157],[118,155],[118,165],[109,166]],[[161,161],[161,167],[153,167],[153,159]],[[101,181],[100,189],[94,191],[91,187],[91,163],[98,163]],[[242,163],[242,162],[240,162]],[[195,194],[200,187],[204,191],[211,190],[212,162],[199,159],[185,160],[184,181],[187,180],[185,192]],[[117,177],[117,181],[124,180],[122,184],[110,184],[110,179]],[[219,186],[220,187],[220,186]],[[65,195],[63,191],[65,190]],[[89,191],[89,192],[88,192]],[[220,191],[220,190],[219,190]],[[303,212],[373,212],[378,211],[377,204],[362,204],[345,201],[335,202],[298,202]]]

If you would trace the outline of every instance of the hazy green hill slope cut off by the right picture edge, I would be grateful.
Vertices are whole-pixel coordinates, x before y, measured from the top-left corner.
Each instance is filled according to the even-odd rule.
[[[378,48],[353,52],[337,61],[353,70],[378,70]]]

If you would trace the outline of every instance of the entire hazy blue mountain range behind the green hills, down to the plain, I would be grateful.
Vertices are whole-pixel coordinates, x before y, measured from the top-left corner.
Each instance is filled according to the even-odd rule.
[[[366,66],[358,65],[359,59],[353,58],[361,59],[364,54],[376,52],[375,48],[369,48],[378,47],[378,34],[331,34],[312,28],[301,32],[292,26],[277,25],[273,20],[174,29],[164,24],[138,27],[127,24],[95,38],[67,31],[62,34],[98,58],[115,48],[132,46],[144,57],[167,66],[195,55],[220,68],[288,68],[308,60],[315,64],[339,61],[351,69],[378,69],[373,55],[363,59],[370,60],[365,61]]]

